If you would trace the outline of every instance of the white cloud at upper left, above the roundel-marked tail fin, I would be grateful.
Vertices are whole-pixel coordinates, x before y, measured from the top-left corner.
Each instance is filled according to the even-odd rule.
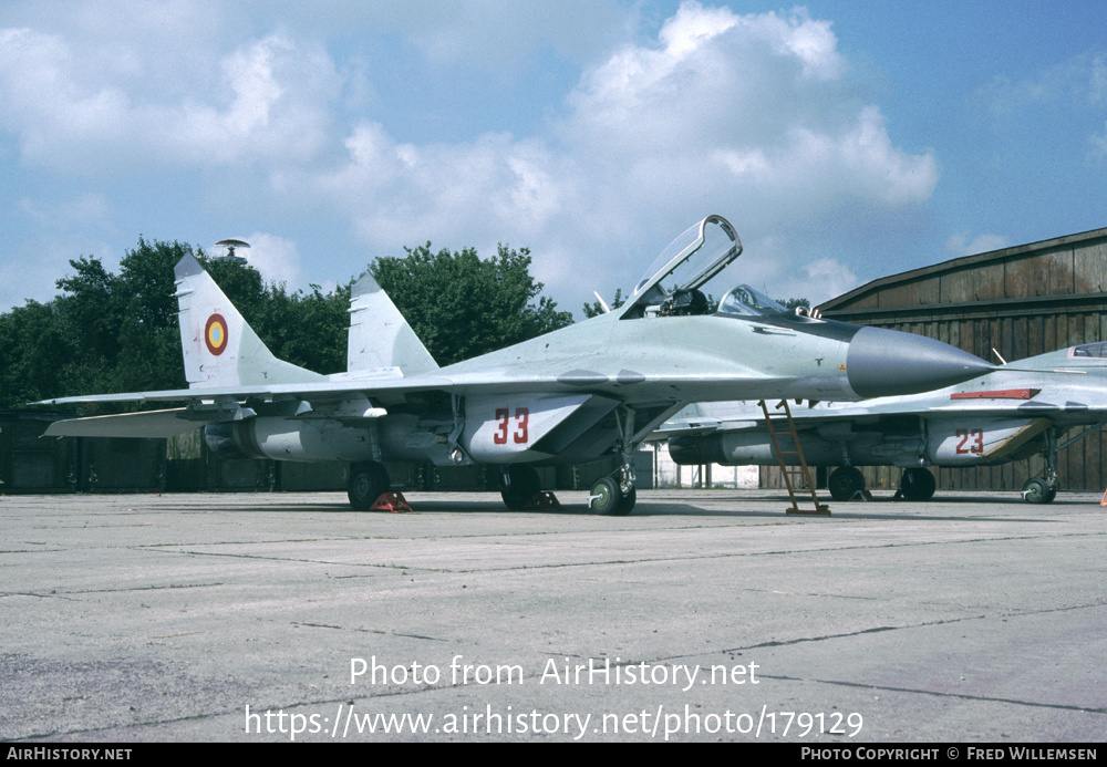
[[[166,101],[136,83],[156,51],[92,77],[86,50],[55,34],[0,30],[0,126],[24,162],[66,174],[308,162],[327,142],[340,87],[312,45],[273,35],[242,43],[214,82]],[[179,85],[179,83],[178,83]]]

